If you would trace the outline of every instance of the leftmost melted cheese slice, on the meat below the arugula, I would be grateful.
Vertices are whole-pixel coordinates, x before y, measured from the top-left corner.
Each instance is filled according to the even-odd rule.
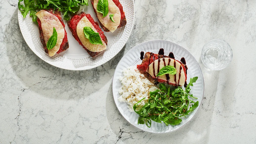
[[[36,16],[41,21],[41,27],[42,27],[46,45],[47,45],[49,38],[52,36],[53,27],[55,27],[55,29],[57,31],[57,34],[58,34],[57,43],[56,43],[55,47],[48,50],[49,56],[54,56],[55,53],[58,52],[60,49],[60,45],[65,36],[65,29],[62,26],[60,20],[55,15],[53,15],[45,10],[40,10],[39,12],[36,13]]]

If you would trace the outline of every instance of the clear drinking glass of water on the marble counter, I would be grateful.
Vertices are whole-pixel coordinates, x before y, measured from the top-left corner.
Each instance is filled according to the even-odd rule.
[[[202,63],[209,69],[225,69],[232,61],[233,52],[230,45],[221,39],[208,41],[202,49]]]

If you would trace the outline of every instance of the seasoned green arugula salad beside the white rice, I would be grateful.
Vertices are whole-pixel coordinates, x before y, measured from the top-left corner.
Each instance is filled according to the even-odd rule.
[[[191,83],[189,83],[189,86],[193,86],[192,83],[196,80],[197,77],[190,79]],[[133,110],[140,115],[138,124],[146,124],[147,127],[151,127],[151,120],[153,120],[157,123],[163,122],[166,126],[169,124],[178,125],[182,121],[180,117],[186,117],[198,106],[198,101],[194,102],[188,99],[190,95],[187,90],[184,91],[181,87],[170,90],[170,87],[167,88],[164,84],[160,84],[159,89],[150,92],[148,103],[142,108],[138,107],[137,104],[145,98],[133,106]],[[190,104],[191,106],[189,107]]]

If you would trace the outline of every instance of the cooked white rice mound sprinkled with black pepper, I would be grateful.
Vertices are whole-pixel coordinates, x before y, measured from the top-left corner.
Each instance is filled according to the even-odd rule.
[[[146,97],[143,101],[138,103],[139,107],[145,105],[148,102],[148,96],[151,91],[155,91],[158,88],[150,82],[144,74],[141,74],[136,66],[129,67],[123,70],[123,77],[120,76],[119,80],[122,86],[119,88],[119,94],[121,95],[118,100],[120,102],[126,102],[127,107],[132,112],[134,104]]]

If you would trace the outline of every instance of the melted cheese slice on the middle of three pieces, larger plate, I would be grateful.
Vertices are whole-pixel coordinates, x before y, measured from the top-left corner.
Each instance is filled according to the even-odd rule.
[[[77,24],[77,36],[79,37],[81,43],[83,44],[84,47],[86,47],[89,51],[92,52],[100,52],[103,51],[107,48],[106,43],[102,40],[102,38],[100,37],[101,41],[102,41],[102,45],[98,44],[98,45],[94,45],[92,43],[90,43],[89,39],[87,39],[84,36],[83,33],[83,28],[84,27],[91,27],[92,30],[94,32],[97,32],[97,30],[94,28],[94,26],[92,25],[92,23],[89,21],[89,19],[84,16]]]

